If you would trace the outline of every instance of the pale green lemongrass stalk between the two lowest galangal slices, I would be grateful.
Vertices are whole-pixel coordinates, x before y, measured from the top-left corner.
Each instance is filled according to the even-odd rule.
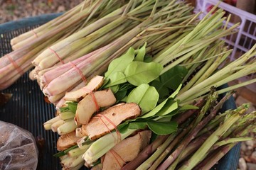
[[[126,132],[120,133],[121,140],[124,140],[124,138],[128,137],[135,131],[136,130],[128,129]],[[117,139],[112,135],[117,136],[117,132],[112,132],[112,134],[108,133],[92,143],[85,154],[82,155],[82,158],[85,159],[87,164],[92,164],[93,162],[97,161],[97,159],[102,157],[105,153],[112,149],[112,147],[114,147]]]

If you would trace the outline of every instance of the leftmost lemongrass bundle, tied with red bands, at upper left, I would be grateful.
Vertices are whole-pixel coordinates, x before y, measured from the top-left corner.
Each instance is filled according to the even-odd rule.
[[[124,1],[85,1],[63,16],[11,40],[14,51],[0,59],[0,89],[6,89],[33,66],[31,63],[47,47],[87,24],[123,6]],[[112,6],[113,5],[113,6]]]

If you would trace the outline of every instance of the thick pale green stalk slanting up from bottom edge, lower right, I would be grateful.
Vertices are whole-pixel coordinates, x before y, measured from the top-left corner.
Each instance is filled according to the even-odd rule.
[[[188,159],[189,163],[183,164],[180,169],[193,169],[193,167],[195,167],[198,162],[201,162],[202,158],[204,155],[206,155],[210,147],[212,147],[215,142],[217,142],[220,137],[224,135],[225,132],[240,119],[240,116],[244,114],[245,111],[245,108],[238,108],[238,110],[234,111],[235,113],[231,115],[228,120],[225,120],[225,122],[221,124],[219,128],[215,130],[212,135],[210,135],[210,137],[208,137],[206,142],[203,143],[203,145],[195,152],[195,154],[193,154],[193,156]]]

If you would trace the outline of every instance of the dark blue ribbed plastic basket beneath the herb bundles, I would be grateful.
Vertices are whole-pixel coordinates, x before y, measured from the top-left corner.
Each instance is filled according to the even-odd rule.
[[[0,25],[0,56],[11,52],[10,40],[15,36],[40,26],[61,13],[47,14],[31,18],[23,18]],[[227,85],[226,85],[227,86]],[[224,88],[223,86],[222,88]],[[13,123],[30,131],[35,137],[41,136],[45,141],[38,158],[37,169],[61,169],[59,160],[53,157],[56,153],[57,135],[43,129],[43,123],[54,117],[55,108],[44,101],[44,96],[36,81],[28,78],[28,72],[16,81],[5,93],[13,94],[11,101],[0,108],[0,120]],[[223,95],[220,95],[223,97]],[[225,102],[222,111],[236,108],[234,98]],[[214,169],[237,169],[240,156],[240,145],[236,145],[223,159],[215,165]],[[85,169],[85,168],[83,168]]]

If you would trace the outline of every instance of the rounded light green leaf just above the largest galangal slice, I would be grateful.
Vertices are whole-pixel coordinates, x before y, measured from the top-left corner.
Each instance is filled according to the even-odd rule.
[[[127,103],[137,103],[142,108],[142,114],[151,111],[156,107],[159,94],[153,86],[141,84],[133,89],[127,96]]]

